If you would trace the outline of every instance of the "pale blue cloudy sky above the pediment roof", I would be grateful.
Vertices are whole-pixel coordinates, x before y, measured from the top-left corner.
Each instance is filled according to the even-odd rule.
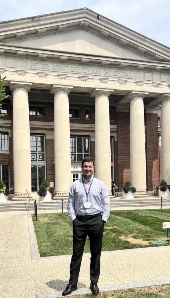
[[[170,0],[0,0],[0,22],[87,7],[170,47]]]

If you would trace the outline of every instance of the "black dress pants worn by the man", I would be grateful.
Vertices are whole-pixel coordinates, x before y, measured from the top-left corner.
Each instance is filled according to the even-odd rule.
[[[73,255],[70,263],[70,285],[77,285],[85,240],[90,240],[90,280],[97,283],[100,275],[100,256],[104,221],[101,215],[92,219],[76,217],[73,221]]]

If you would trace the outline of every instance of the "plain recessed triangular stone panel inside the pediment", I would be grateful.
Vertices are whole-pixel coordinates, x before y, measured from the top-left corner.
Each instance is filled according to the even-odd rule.
[[[23,38],[11,38],[7,44],[36,49],[45,49],[62,52],[81,53],[85,55],[100,55],[115,58],[135,60],[153,60],[144,57],[143,53],[136,53],[133,48],[125,48],[120,43],[115,44],[102,36],[97,36],[85,29],[57,32],[39,36],[37,34]]]

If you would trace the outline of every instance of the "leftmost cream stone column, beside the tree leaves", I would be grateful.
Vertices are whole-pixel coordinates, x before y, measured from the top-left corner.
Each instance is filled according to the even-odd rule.
[[[26,189],[31,193],[31,150],[28,91],[31,83],[10,82],[13,91],[13,165],[14,197],[25,200]]]

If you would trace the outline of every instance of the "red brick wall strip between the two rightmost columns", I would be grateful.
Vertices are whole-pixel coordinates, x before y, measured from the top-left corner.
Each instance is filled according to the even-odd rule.
[[[154,191],[160,183],[158,150],[158,114],[146,113],[147,191]]]

